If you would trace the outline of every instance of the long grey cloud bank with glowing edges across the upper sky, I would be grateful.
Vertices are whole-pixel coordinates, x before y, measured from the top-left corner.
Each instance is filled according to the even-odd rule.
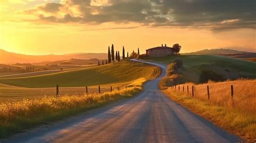
[[[159,28],[255,29],[254,0],[63,0],[26,10],[38,21],[139,23]],[[40,11],[40,12],[38,12]]]

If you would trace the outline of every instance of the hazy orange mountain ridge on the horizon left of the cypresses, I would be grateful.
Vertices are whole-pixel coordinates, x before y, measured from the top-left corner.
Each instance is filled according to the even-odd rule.
[[[44,61],[58,61],[68,59],[107,59],[107,53],[71,53],[66,55],[23,55],[14,52],[7,52],[0,49],[0,63],[14,64],[14,63],[39,63]]]

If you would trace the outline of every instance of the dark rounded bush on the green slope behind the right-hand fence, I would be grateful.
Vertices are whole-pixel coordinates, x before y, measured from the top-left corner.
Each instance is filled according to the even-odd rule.
[[[213,80],[213,81],[224,81],[225,78],[223,74],[214,72],[212,70],[205,70],[202,71],[199,77],[199,82],[200,83],[207,83],[208,80]]]

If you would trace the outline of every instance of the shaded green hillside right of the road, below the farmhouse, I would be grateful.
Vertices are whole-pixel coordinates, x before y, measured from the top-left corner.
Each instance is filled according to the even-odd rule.
[[[180,55],[166,57],[147,57],[164,64],[172,63],[176,58],[183,61],[183,69],[179,72],[186,81],[199,83],[202,71],[210,70],[220,74],[224,79],[256,78],[256,63],[215,55]]]

